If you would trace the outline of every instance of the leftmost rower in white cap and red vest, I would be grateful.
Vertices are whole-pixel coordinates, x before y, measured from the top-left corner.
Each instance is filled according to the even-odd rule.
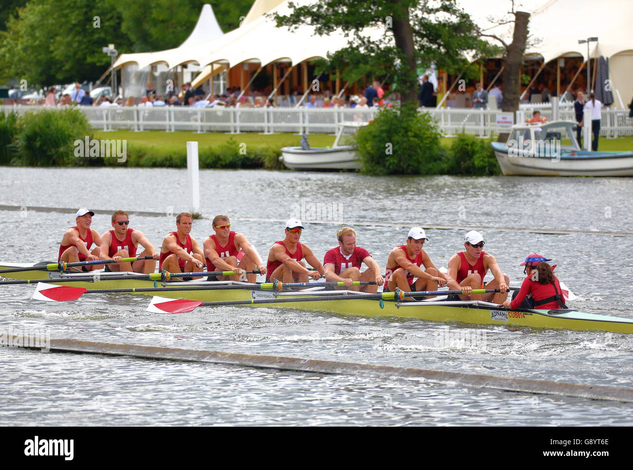
[[[97,231],[91,229],[93,215],[94,212],[85,207],[77,211],[75,214],[75,222],[77,225],[66,230],[61,238],[60,253],[57,257],[58,262],[77,263],[99,260],[99,245],[101,245],[101,239]],[[92,243],[96,246],[94,250],[90,251]],[[89,272],[101,267],[102,265],[88,265],[82,266],[81,270]]]

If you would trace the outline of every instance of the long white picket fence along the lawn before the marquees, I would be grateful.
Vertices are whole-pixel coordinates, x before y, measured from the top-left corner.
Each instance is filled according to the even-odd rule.
[[[16,111],[18,114],[34,111],[47,106],[0,106],[0,110]],[[61,109],[61,108],[52,108]],[[144,108],[137,106],[100,108],[80,106],[93,129],[127,129],[136,132],[147,130],[190,130],[194,132],[294,132],[301,134],[334,133],[337,122],[371,120],[378,110],[373,108],[187,108],[183,106],[161,106]],[[551,104],[522,105],[514,122],[522,122],[538,109],[541,115],[551,120]],[[439,124],[439,129],[448,136],[460,132],[475,136],[492,137],[508,126],[499,125],[501,117],[509,118],[512,113],[499,110],[473,108],[423,108]],[[560,106],[561,119],[574,120],[573,107]],[[633,122],[628,117],[629,110],[603,109],[601,135],[605,137],[632,136]]]

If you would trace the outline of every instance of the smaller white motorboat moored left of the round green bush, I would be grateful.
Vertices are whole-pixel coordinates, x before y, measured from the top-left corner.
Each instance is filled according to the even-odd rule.
[[[363,163],[353,145],[346,144],[350,136],[367,122],[339,122],[339,130],[332,148],[310,147],[307,137],[301,147],[284,147],[279,160],[292,170],[358,170]]]

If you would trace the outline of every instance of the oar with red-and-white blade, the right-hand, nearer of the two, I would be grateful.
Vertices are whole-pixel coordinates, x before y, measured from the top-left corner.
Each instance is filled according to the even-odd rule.
[[[499,289],[473,289],[473,294],[487,294],[499,292]],[[293,302],[328,302],[330,300],[404,300],[405,297],[429,297],[434,295],[463,294],[463,291],[422,291],[405,292],[396,289],[394,292],[383,292],[381,294],[361,294],[361,295],[330,295],[330,296],[310,296],[310,297],[290,297],[272,298],[261,300],[229,300],[227,302],[199,302],[197,300],[183,300],[154,296],[147,307],[147,312],[155,314],[182,314],[191,312],[197,307],[223,307],[227,305],[261,305],[265,303],[293,303]]]

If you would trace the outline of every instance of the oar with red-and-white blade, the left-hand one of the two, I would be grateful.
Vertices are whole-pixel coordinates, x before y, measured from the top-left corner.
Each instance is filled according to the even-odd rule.
[[[46,302],[66,302],[68,300],[77,300],[80,296],[89,294],[117,294],[117,293],[138,293],[138,292],[180,292],[180,291],[215,291],[215,290],[233,290],[242,289],[249,291],[282,291],[282,289],[291,289],[305,287],[305,284],[310,284],[310,287],[325,287],[325,286],[338,286],[344,287],[345,283],[332,282],[332,283],[262,283],[262,284],[229,284],[225,286],[182,286],[182,287],[156,287],[156,288],[121,288],[121,289],[85,289],[82,287],[72,286],[57,286],[55,284],[37,283],[33,298],[35,300],[44,300]],[[355,281],[354,286],[361,286],[366,284],[375,284],[373,281]]]

